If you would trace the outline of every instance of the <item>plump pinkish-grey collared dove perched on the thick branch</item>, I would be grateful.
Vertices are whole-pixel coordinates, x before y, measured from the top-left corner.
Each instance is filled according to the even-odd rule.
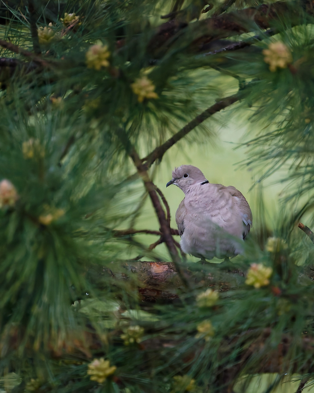
[[[211,184],[192,165],[181,165],[172,180],[185,194],[175,214],[180,245],[185,253],[201,258],[234,257],[252,226],[252,212],[245,197],[231,185]]]

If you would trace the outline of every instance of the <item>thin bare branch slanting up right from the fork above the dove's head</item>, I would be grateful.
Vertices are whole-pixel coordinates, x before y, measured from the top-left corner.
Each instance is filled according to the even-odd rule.
[[[144,169],[145,170],[148,169],[156,160],[161,160],[164,153],[168,149],[170,149],[170,147],[172,147],[177,141],[179,141],[184,136],[186,136],[186,134],[192,131],[195,127],[203,123],[204,120],[208,119],[210,116],[219,112],[220,110],[229,107],[236,101],[239,101],[239,99],[241,99],[240,94],[230,95],[229,97],[222,99],[221,101],[215,103],[208,109],[204,110],[203,113],[196,116],[196,118],[190,121],[190,123],[186,124],[180,131],[174,134],[165,143],[156,147],[156,149],[154,149],[150,154],[148,154],[148,156],[143,158],[142,162],[144,162]]]

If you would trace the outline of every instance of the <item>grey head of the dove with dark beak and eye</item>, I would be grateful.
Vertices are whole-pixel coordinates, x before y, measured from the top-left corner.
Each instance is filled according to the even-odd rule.
[[[208,182],[204,174],[193,165],[181,165],[172,171],[172,180],[167,183],[166,187],[171,184],[177,185],[186,193],[194,184],[202,184]]]

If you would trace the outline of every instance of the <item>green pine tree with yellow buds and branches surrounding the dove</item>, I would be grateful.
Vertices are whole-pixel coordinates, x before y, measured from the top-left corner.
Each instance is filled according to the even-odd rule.
[[[309,0],[2,0],[1,389],[311,384],[313,24]],[[257,183],[288,167],[282,211],[271,231],[260,193],[245,253],[191,263],[154,176],[241,108]]]

